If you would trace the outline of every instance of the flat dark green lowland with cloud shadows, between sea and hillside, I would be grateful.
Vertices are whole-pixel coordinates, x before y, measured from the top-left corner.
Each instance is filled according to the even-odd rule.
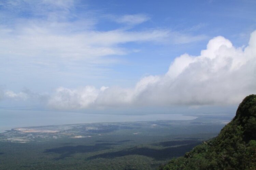
[[[216,136],[224,126],[219,121],[213,122],[212,118],[208,123],[193,123],[207,122],[207,120],[127,122],[111,123],[110,126],[106,126],[108,125],[106,123],[90,124],[89,127],[96,127],[95,134],[90,130],[91,137],[86,138],[70,138],[61,136],[61,133],[49,133],[44,136],[54,135],[58,138],[46,139],[37,138],[43,135],[40,133],[17,134],[12,131],[9,136],[4,134],[0,139],[4,139],[4,136],[15,138],[23,135],[33,140],[27,143],[0,141],[0,170],[153,170],[173,157],[184,155],[202,140]],[[215,120],[219,118],[216,117]],[[229,120],[231,120],[230,116]],[[152,126],[152,124],[157,125]],[[52,129],[58,127],[52,126]],[[80,130],[70,129],[65,133],[89,135],[81,132],[83,130],[81,125],[72,125],[72,127]],[[97,131],[102,128],[109,130]]]

